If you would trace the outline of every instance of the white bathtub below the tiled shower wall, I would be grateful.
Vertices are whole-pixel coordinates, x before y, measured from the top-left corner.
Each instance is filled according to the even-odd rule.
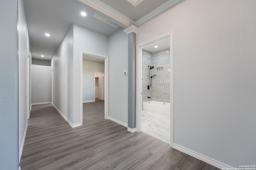
[[[142,108],[145,111],[161,113],[170,116],[170,103],[156,101],[143,102]]]

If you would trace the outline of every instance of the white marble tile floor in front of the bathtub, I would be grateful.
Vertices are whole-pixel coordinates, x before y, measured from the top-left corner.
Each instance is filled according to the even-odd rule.
[[[170,144],[170,115],[143,110],[142,132]]]

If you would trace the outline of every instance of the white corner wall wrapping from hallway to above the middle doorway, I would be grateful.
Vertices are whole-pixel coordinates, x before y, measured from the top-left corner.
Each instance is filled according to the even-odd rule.
[[[53,104],[73,127],[80,125],[82,113],[81,51],[108,55],[108,36],[72,25],[52,58]]]

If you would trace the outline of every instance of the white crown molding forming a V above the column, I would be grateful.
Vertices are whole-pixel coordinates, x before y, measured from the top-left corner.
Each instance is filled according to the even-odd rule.
[[[131,20],[130,18],[126,17],[125,15],[121,14],[120,12],[111,8],[110,6],[104,4],[100,0],[78,0],[78,1],[114,19],[118,25],[124,28],[127,28],[130,25],[135,25],[135,26],[141,25],[142,23],[150,20],[154,16],[164,12],[165,10],[168,10],[169,8],[171,8],[172,6],[174,6],[175,4],[177,4],[182,0],[168,0],[167,2],[165,2],[158,8],[154,9],[152,12],[146,14],[145,16],[143,16],[137,21]],[[138,0],[134,0],[134,1],[136,2]]]

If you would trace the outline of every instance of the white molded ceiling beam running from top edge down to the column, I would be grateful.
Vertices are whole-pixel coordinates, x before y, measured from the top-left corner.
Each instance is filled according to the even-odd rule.
[[[104,4],[100,0],[78,0],[78,1],[116,20],[118,22],[118,25],[122,27],[126,28],[126,27],[129,27],[130,25],[135,24],[133,20],[121,14],[120,12],[116,11],[115,9],[111,8],[110,6]],[[116,21],[115,23],[117,23]]]

